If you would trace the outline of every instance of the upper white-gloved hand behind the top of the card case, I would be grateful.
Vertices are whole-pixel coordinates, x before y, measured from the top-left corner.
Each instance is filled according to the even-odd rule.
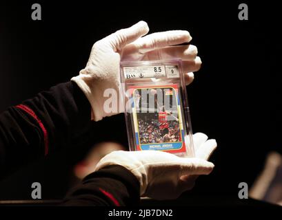
[[[123,111],[123,104],[119,104],[120,76],[119,63],[121,56],[124,60],[141,60],[156,57],[159,52],[162,58],[179,57],[183,59],[183,70],[186,83],[192,83],[194,75],[201,66],[201,59],[197,56],[197,47],[193,45],[170,48],[170,45],[188,43],[192,38],[187,31],[175,30],[149,34],[147,23],[140,21],[130,28],[122,29],[104,39],[94,43],[89,61],[79,76],[72,78],[79,85],[92,107],[92,120],[98,121],[105,116]],[[105,109],[108,100],[106,89],[114,89],[117,96],[114,103],[116,108]],[[112,92],[113,90],[111,90]],[[114,110],[114,112],[113,112]]]

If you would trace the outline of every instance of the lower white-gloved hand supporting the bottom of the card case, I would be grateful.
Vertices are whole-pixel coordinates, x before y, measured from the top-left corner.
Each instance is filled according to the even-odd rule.
[[[128,168],[140,182],[140,195],[175,199],[194,186],[195,175],[208,175],[214,164],[205,160],[216,148],[215,140],[203,133],[193,135],[196,156],[178,157],[163,151],[114,151],[103,157],[95,170],[109,165]]]

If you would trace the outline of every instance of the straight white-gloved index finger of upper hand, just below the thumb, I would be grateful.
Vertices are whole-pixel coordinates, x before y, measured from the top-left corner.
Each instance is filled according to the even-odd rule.
[[[145,54],[152,50],[181,43],[189,43],[192,37],[185,30],[170,30],[167,32],[157,32],[148,34],[133,43],[136,50],[141,54]]]

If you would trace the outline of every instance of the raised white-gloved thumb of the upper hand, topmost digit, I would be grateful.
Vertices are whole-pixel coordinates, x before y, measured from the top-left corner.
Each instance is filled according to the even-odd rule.
[[[121,29],[114,34],[110,34],[103,40],[108,41],[112,49],[117,52],[122,50],[125,45],[128,45],[129,43],[139,39],[141,36],[148,34],[148,32],[148,24],[145,21],[139,21],[130,28]]]

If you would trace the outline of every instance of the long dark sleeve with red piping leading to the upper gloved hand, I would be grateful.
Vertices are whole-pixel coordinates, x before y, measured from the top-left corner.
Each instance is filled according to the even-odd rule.
[[[74,82],[62,83],[0,115],[0,179],[48,155],[90,126],[91,107]]]

